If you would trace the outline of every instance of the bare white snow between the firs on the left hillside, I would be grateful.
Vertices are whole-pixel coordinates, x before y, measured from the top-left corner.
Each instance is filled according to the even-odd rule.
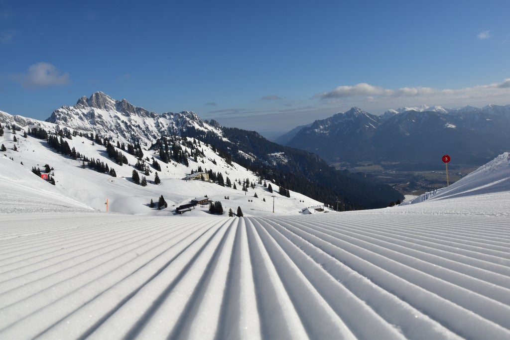
[[[45,124],[52,125],[51,123]],[[158,159],[157,154],[143,150],[144,155],[149,159],[152,156],[158,159],[162,171],[158,173],[161,179],[160,185],[152,184],[151,181],[154,180],[155,176],[155,170],[152,169],[152,173],[146,176],[148,185],[142,187],[132,182],[131,177],[134,169],[132,166],[119,166],[106,156],[104,146],[92,145],[89,139],[75,136],[71,140],[66,139],[66,141],[71,148],[74,147],[88,158],[99,159],[107,164],[109,168],[114,168],[117,177],[98,173],[87,166],[86,169],[82,169],[83,162],[81,160],[73,160],[55,153],[53,149],[48,147],[46,141],[31,136],[23,138],[22,132],[15,135],[18,142],[14,143],[12,142],[14,135],[11,130],[4,130],[5,134],[0,137],[0,144],[5,144],[8,150],[4,152],[6,156],[4,156],[4,153],[0,155],[2,161],[0,162],[0,171],[4,175],[0,181],[4,182],[5,190],[19,196],[19,199],[22,200],[25,196],[34,196],[34,199],[21,204],[15,203],[14,196],[8,199],[6,196],[2,197],[0,195],[0,203],[3,203],[0,204],[0,213],[36,213],[48,209],[51,211],[57,203],[63,204],[68,211],[83,212],[83,209],[85,209],[87,211],[106,212],[106,200],[108,199],[109,212],[173,217],[176,215],[175,208],[177,206],[189,203],[195,197],[207,195],[213,202],[220,201],[225,213],[230,208],[236,212],[237,207],[240,206],[244,216],[272,214],[273,194],[269,193],[267,188],[257,184],[259,178],[236,163],[228,165],[216,152],[213,152],[211,147],[203,143],[198,148],[205,153],[205,157],[203,159],[199,157],[197,162],[189,159],[190,168],[175,162],[165,164]],[[48,130],[53,131],[54,128],[48,128]],[[14,145],[16,145],[18,151],[12,150]],[[125,155],[131,165],[137,162],[133,155],[127,152]],[[32,174],[32,167],[39,167],[43,170],[45,164],[54,167],[55,170],[52,173],[55,174],[56,186],[49,185]],[[183,180],[189,175],[191,169],[196,171],[199,166],[203,169],[221,172],[225,180],[227,176],[233,183],[236,180],[237,190],[221,187],[208,181]],[[140,173],[140,178],[141,176],[143,176],[143,173]],[[246,178],[250,182],[256,183],[256,187],[255,189],[248,188],[247,192],[243,192],[241,191],[242,181]],[[237,181],[241,181],[241,184]],[[21,187],[26,187],[29,191],[23,191],[24,189],[22,190],[20,187],[18,192],[18,182],[22,183],[22,186],[20,184]],[[271,182],[267,181],[267,183],[270,184]],[[274,191],[278,191],[279,187],[276,184],[272,183],[271,186]],[[30,193],[30,188],[33,189],[34,195]],[[44,195],[47,195],[47,192],[51,192],[53,196],[42,199]],[[258,198],[253,197],[256,193]],[[161,195],[168,203],[168,208],[163,210],[150,208],[150,200],[152,199],[157,203]],[[228,199],[225,199],[225,197],[228,197]],[[75,202],[75,205],[78,204],[78,206],[62,202]],[[291,192],[290,198],[278,194],[275,197],[275,211],[278,214],[296,214],[304,207],[319,204],[322,203],[294,192]],[[65,209],[62,208],[61,210]],[[208,205],[197,207],[191,212],[179,215],[179,217],[209,216],[208,210]]]

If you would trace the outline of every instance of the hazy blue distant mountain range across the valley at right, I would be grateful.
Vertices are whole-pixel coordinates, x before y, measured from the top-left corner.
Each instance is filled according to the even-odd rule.
[[[481,165],[510,149],[510,105],[419,107],[375,116],[359,108],[293,129],[276,142],[315,152],[329,164],[398,163],[407,168],[452,162]]]

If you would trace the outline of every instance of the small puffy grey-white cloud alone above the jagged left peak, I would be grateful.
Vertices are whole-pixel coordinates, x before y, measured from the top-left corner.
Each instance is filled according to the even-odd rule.
[[[21,85],[27,89],[67,85],[70,82],[69,73],[62,73],[55,65],[43,62],[30,66],[21,78]]]

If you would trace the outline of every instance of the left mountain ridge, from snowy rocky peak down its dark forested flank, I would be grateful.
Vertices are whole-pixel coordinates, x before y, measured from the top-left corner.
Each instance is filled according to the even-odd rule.
[[[214,120],[201,120],[193,112],[149,112],[125,99],[115,100],[103,92],[95,92],[89,98],[82,97],[74,106],[55,110],[45,122],[2,112],[0,122],[15,122],[21,128],[40,127],[50,135],[61,137],[79,132],[90,135],[90,138],[94,136],[96,141],[110,140],[113,145],[119,141],[120,144],[133,144],[135,148],[139,145],[152,152],[158,161],[166,158],[162,158],[161,153],[165,138],[190,137],[206,143],[227,163],[236,162],[259,178],[318,201],[335,206],[340,202],[342,210],[383,207],[403,199],[396,190],[370,176],[337,171],[314,153],[270,142],[256,132],[223,127]],[[188,162],[183,160],[187,158],[190,161],[189,171],[194,169],[193,163],[197,161],[193,161],[193,148],[186,145],[186,139],[179,142],[179,139],[171,138],[170,141],[174,144],[167,148],[171,148],[182,160],[177,163],[188,166]],[[199,163],[194,167],[212,168],[205,159]]]

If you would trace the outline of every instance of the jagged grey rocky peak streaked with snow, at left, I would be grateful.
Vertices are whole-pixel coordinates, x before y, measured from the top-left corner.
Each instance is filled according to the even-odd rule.
[[[189,127],[221,134],[194,112],[166,112],[161,115],[133,106],[126,99],[115,100],[103,92],[82,97],[74,106],[63,106],[46,119],[68,128],[103,137],[123,138],[131,143],[151,144],[161,136],[180,135]]]

